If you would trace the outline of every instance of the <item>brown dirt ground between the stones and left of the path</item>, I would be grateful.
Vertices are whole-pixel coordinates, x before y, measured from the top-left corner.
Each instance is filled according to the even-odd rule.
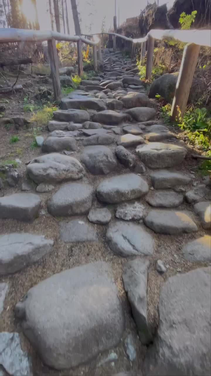
[[[34,76],[33,76],[34,77]],[[24,106],[24,97],[29,95],[33,96],[36,89],[40,86],[37,77],[33,78],[24,77],[20,79],[20,82],[24,86],[22,92],[17,92],[14,94],[3,94],[0,95],[0,104],[4,104],[6,107],[5,116],[14,117],[14,116],[23,116],[28,120],[32,116],[29,112],[23,111]],[[51,89],[51,85],[45,85],[47,88]],[[5,101],[6,99],[6,101]],[[9,102],[7,102],[9,101]],[[2,117],[3,118],[3,117]],[[1,118],[0,118],[1,121]],[[47,131],[43,124],[42,130],[39,133],[43,136],[47,135]],[[2,161],[8,159],[19,158],[21,164],[18,167],[18,171],[24,173],[26,169],[26,162],[30,159],[35,158],[38,155],[41,155],[41,150],[39,148],[33,149],[31,147],[33,141],[33,132],[32,126],[36,127],[36,124],[30,124],[29,127],[22,127],[19,130],[14,129],[14,126],[5,127],[0,125],[0,164]],[[175,129],[173,129],[175,132]],[[18,135],[19,141],[15,144],[10,144],[9,140],[12,135]],[[182,137],[182,136],[181,136]],[[80,155],[81,150],[83,149],[82,144],[78,145],[79,149],[74,153],[73,156],[76,158]],[[112,148],[112,147],[111,147]],[[134,152],[134,149],[129,149],[131,152]],[[198,174],[197,165],[199,162],[192,159],[190,156],[191,151],[188,152],[187,159],[183,162],[179,168],[174,168],[174,171],[180,171],[182,173],[191,174],[193,177],[193,182],[202,183],[203,177]],[[119,164],[119,171],[129,172],[129,170],[122,167]],[[143,178],[150,181],[149,170],[147,169],[145,174],[142,174]],[[115,173],[116,174],[116,173]],[[110,174],[109,176],[111,176]],[[89,181],[96,187],[98,183],[103,180],[103,177],[93,176],[91,174],[86,174],[81,181]],[[189,186],[185,186],[186,190],[189,190],[193,187],[193,182]],[[59,187],[59,186],[58,186]],[[3,193],[9,195],[14,192],[20,191],[20,185],[14,188],[6,187]],[[113,270],[116,284],[119,290],[119,299],[122,302],[125,318],[126,318],[126,330],[124,332],[124,337],[121,340],[119,346],[113,349],[118,354],[118,360],[115,361],[115,364],[108,363],[98,367],[98,363],[101,358],[105,358],[107,353],[104,353],[101,356],[98,356],[97,359],[94,359],[88,365],[77,367],[71,370],[65,371],[56,371],[53,370],[44,364],[42,364],[41,359],[38,354],[30,345],[29,341],[21,334],[23,340],[23,348],[27,349],[30,354],[33,355],[33,374],[35,376],[56,376],[56,375],[112,375],[120,371],[133,371],[134,374],[142,374],[143,370],[143,359],[146,352],[146,346],[142,346],[138,339],[136,325],[134,324],[133,318],[131,317],[130,306],[128,304],[127,296],[124,291],[122,283],[122,267],[131,258],[122,258],[115,256],[115,254],[107,247],[105,243],[105,232],[107,226],[95,225],[95,228],[98,232],[100,242],[99,243],[74,243],[74,244],[65,244],[59,238],[59,221],[66,218],[54,218],[47,213],[46,203],[48,197],[51,194],[41,194],[42,198],[42,208],[45,209],[45,214],[36,218],[33,223],[22,223],[16,220],[0,220],[0,234],[8,232],[32,232],[32,233],[42,233],[47,238],[54,239],[54,246],[50,253],[48,253],[41,261],[37,262],[34,265],[31,265],[24,270],[7,277],[0,278],[0,282],[9,283],[9,292],[5,300],[5,309],[2,312],[0,319],[0,331],[17,331],[21,333],[21,327],[18,320],[14,317],[14,306],[15,304],[23,298],[27,293],[29,288],[38,284],[41,280],[44,280],[47,277],[60,271],[72,268],[78,265],[86,264],[88,262],[103,260],[107,261]],[[146,203],[145,199],[136,200],[140,203],[144,203],[149,209],[149,205]],[[95,203],[93,204],[95,205]],[[99,203],[98,203],[99,206]],[[112,211],[113,217],[115,212],[115,205],[109,207]],[[178,207],[178,209],[187,209],[191,210],[191,206],[187,203],[183,203]],[[147,231],[154,237],[156,243],[156,252],[152,257],[146,257],[150,260],[151,266],[148,273],[148,317],[153,327],[154,331],[157,330],[158,325],[158,303],[159,303],[159,291],[161,285],[165,280],[174,275],[175,273],[183,273],[185,271],[194,269],[200,266],[207,266],[207,263],[189,263],[185,261],[181,254],[182,245],[188,240],[194,238],[199,238],[204,234],[208,234],[208,231],[205,231],[199,224],[197,217],[191,212],[191,217],[196,222],[199,231],[191,234],[180,234],[176,236],[170,235],[160,235],[155,234],[153,231],[147,229]],[[80,217],[81,218],[81,217]],[[155,270],[155,262],[157,259],[161,259],[167,266],[167,272],[164,274],[158,274]],[[136,361],[131,363],[127,355],[125,354],[123,342],[124,338],[128,333],[132,333],[134,340],[136,342],[136,351],[137,358]]]

